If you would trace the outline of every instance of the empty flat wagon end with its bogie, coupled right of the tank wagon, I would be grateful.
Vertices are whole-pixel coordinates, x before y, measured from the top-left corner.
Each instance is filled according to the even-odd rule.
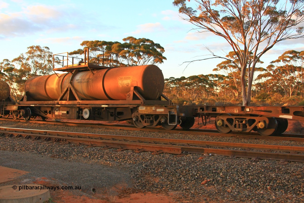
[[[257,131],[260,135],[282,134],[288,120],[304,121],[303,106],[198,106],[202,117],[215,117],[220,133]]]

